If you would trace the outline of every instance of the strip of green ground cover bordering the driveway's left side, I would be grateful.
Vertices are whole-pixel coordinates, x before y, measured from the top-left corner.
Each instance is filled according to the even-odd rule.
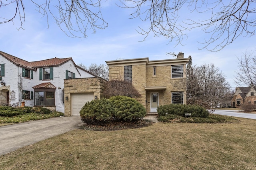
[[[12,116],[12,117],[0,116],[0,126],[1,125],[9,125],[10,123],[22,123],[22,122],[27,122],[27,121],[48,119],[48,118],[52,118],[52,117],[59,117],[61,115],[64,115],[64,113],[55,111],[55,112],[51,112],[48,114],[26,113],[26,114],[16,115],[16,116]]]

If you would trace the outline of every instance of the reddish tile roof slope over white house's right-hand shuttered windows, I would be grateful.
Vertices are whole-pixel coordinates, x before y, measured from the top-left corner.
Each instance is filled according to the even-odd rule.
[[[59,66],[62,65],[68,61],[72,60],[72,58],[53,58],[53,59],[46,59],[41,61],[32,61],[30,62],[32,64],[32,67],[44,67],[44,66]],[[73,62],[73,61],[72,61]],[[73,62],[74,63],[74,62]]]

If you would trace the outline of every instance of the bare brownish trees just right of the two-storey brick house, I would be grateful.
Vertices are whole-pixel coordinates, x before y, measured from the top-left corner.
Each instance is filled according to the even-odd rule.
[[[188,71],[187,74],[187,104],[198,104],[206,108],[221,102],[230,105],[230,84],[214,64],[192,67],[190,74]]]

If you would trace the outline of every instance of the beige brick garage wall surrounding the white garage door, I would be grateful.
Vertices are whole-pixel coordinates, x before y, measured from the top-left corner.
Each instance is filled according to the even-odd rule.
[[[106,80],[95,78],[77,78],[64,80],[64,107],[65,116],[71,115],[71,94],[93,93],[98,99],[103,98],[104,82]],[[66,100],[66,98],[68,100]]]

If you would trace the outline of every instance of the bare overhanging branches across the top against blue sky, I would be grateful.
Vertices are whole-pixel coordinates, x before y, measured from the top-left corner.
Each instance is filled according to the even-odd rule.
[[[30,0],[40,14],[56,21],[66,35],[87,37],[87,30],[104,29],[108,23],[101,13],[101,0]],[[28,2],[26,2],[28,3]],[[134,9],[131,18],[148,21],[140,27],[146,37],[153,33],[181,44],[187,38],[186,30],[196,28],[210,37],[199,42],[202,48],[219,51],[239,36],[255,35],[255,0],[120,0],[118,6]],[[20,28],[25,21],[24,0],[0,0],[0,9],[11,7],[14,14],[0,18],[0,23],[14,22],[19,18]],[[184,14],[182,18],[181,14]],[[200,15],[200,17],[199,17]],[[195,19],[196,18],[196,19]],[[200,19],[201,18],[201,19]],[[49,23],[48,23],[49,27]],[[212,45],[212,46],[210,46]]]

